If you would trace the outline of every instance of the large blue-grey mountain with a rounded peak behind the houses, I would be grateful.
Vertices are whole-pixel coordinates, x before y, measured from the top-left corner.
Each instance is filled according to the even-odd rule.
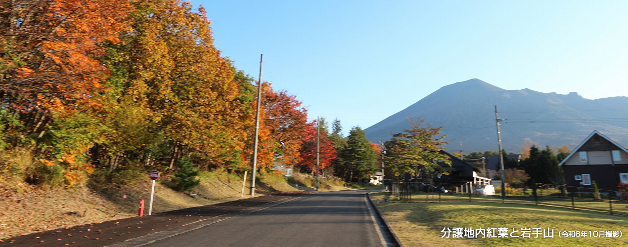
[[[593,130],[628,145],[628,97],[588,100],[575,92],[504,90],[478,79],[442,87],[364,131],[371,142],[389,140],[390,133],[408,129],[408,117],[423,117],[425,123],[443,126],[452,152],[458,152],[460,142],[465,153],[497,150],[495,105],[499,118],[506,119],[501,132],[508,152],[519,152],[526,139],[542,147],[573,148]]]

